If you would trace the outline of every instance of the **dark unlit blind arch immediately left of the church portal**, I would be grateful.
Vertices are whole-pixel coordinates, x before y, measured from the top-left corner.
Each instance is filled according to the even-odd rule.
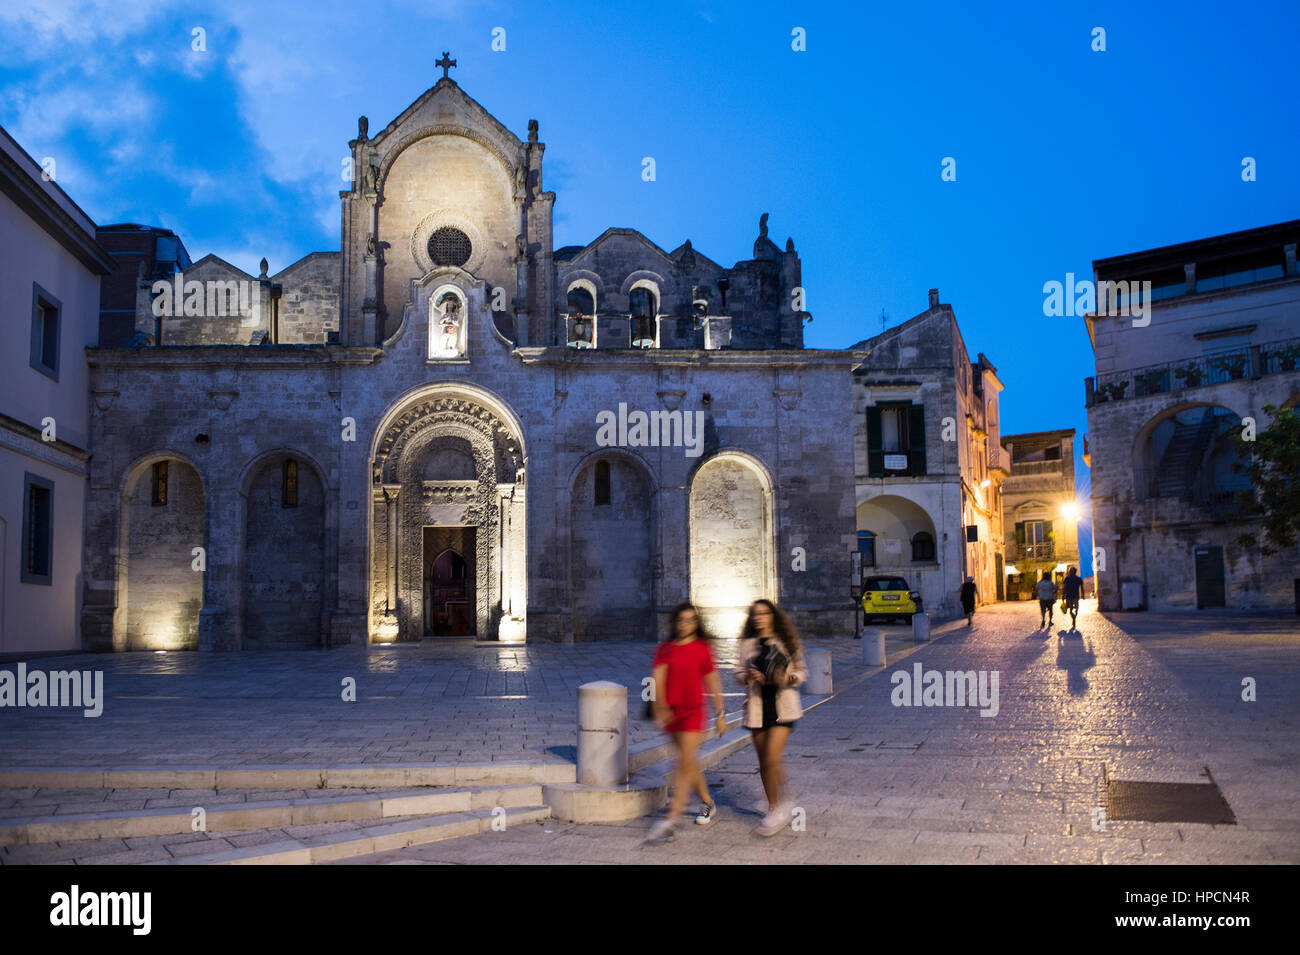
[[[296,463],[298,503],[278,498],[282,468]],[[254,455],[239,473],[237,551],[239,634],[244,647],[328,646],[335,604],[338,502],[312,455],[277,447]],[[269,498],[274,498],[270,500]]]

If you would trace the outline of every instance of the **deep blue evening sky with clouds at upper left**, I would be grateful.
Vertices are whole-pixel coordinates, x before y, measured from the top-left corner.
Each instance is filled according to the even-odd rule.
[[[96,221],[274,272],[339,247],[356,117],[385,126],[450,49],[517,135],[541,122],[556,247],[628,226],[731,264],[768,212],[802,256],[810,346],[876,334],[881,309],[897,324],[939,287],[1006,385],[1004,431],[1082,435],[1092,353],[1080,320],[1043,316],[1043,283],[1300,216],[1297,27],[1294,0],[6,0],[0,123]]]

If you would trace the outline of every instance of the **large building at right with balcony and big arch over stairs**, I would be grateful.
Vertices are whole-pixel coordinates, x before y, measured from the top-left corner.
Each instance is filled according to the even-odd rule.
[[[1300,221],[1093,262],[1086,381],[1102,609],[1290,608],[1231,433],[1300,401]],[[1135,286],[1147,309],[1131,307]]]

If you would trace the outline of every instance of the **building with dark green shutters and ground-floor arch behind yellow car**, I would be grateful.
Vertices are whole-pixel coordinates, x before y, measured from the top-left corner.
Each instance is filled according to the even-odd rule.
[[[1002,599],[1000,440],[1002,382],[966,351],[939,291],[930,308],[853,347],[857,546],[864,573],[897,574],[936,618],[958,616],[974,577],[980,602]]]

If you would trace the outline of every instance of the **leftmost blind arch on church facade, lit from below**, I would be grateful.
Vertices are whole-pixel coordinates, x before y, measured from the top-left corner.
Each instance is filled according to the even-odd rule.
[[[168,503],[156,507],[152,469],[162,461]],[[196,650],[208,546],[207,485],[199,465],[170,448],[131,461],[118,483],[117,530],[114,646]]]

